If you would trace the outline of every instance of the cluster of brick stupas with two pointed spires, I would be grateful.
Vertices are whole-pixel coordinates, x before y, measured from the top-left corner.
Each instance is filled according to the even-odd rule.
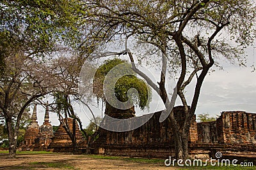
[[[39,127],[36,116],[36,104],[34,105],[31,123],[26,129],[22,150],[53,150],[54,152],[72,152],[72,141],[67,132],[60,124],[58,130],[53,134],[52,125],[49,122],[49,106],[45,109],[44,123]],[[68,118],[67,124],[72,129],[72,118]],[[86,142],[82,137],[76,123],[77,146],[84,146]],[[51,146],[50,146],[51,145]]]

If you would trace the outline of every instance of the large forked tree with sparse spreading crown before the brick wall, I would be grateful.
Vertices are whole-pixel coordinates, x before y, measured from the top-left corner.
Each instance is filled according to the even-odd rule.
[[[148,81],[159,92],[170,112],[177,159],[186,159],[188,132],[205,76],[218,59],[244,64],[243,49],[255,38],[255,3],[251,0],[186,0],[186,1],[87,1],[86,15],[94,25],[93,36],[111,39],[115,35],[152,43],[163,52],[161,80]],[[101,29],[100,29],[101,28]],[[129,51],[127,51],[129,52]],[[129,52],[131,62],[132,53]],[[177,72],[177,94],[186,117],[179,124],[172,111],[166,88],[166,67]],[[219,65],[220,66],[220,65]],[[134,71],[140,71],[133,66]],[[140,74],[149,80],[144,74]],[[196,79],[191,100],[186,87]],[[191,103],[188,103],[191,101]],[[190,105],[190,107],[189,107]]]

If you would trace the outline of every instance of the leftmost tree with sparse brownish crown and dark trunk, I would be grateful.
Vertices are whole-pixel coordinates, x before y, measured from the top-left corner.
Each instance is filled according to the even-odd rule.
[[[36,62],[22,53],[5,57],[6,64],[0,76],[0,108],[8,132],[9,155],[15,157],[22,115],[36,98],[51,92],[54,81],[49,81],[42,62]]]

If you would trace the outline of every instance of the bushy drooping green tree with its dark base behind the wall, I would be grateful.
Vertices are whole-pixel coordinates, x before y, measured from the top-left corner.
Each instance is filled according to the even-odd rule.
[[[122,67],[118,67],[115,69],[115,66],[120,66],[120,64],[122,64]],[[127,74],[119,78],[115,84],[114,82],[105,83],[105,85],[107,84],[109,88],[106,88],[108,90],[104,90],[103,84],[109,71],[112,71],[110,75],[111,79],[118,77],[119,74]],[[113,94],[112,97],[109,97],[109,99],[106,99],[105,95],[111,93],[109,91],[111,87],[113,87],[115,94]],[[129,96],[128,90],[131,88],[137,90],[139,95],[138,98],[135,98],[136,96],[132,92],[130,94],[131,96]],[[121,109],[118,109],[113,106],[113,104],[116,104],[115,97],[116,99],[118,99],[118,101],[121,101],[122,103],[131,102],[128,105],[137,105],[141,108],[141,110],[148,106],[148,103],[151,99],[151,95],[148,95],[150,94],[150,90],[148,89],[147,84],[136,76],[136,73],[132,71],[132,67],[130,64],[126,63],[125,60],[121,59],[106,60],[104,64],[102,64],[97,69],[93,79],[93,93],[97,96],[98,99],[102,99],[102,101],[106,103],[105,114],[113,118],[131,118],[135,116],[134,107],[124,109],[119,104]],[[129,97],[134,98],[133,100],[129,100]],[[116,104],[116,106],[118,106],[118,104]]]

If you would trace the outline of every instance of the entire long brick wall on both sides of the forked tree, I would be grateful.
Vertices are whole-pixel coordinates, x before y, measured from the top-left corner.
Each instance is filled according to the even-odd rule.
[[[184,120],[184,108],[174,108],[175,117]],[[161,112],[129,132],[110,132],[100,129],[95,142],[95,153],[132,157],[175,156],[173,131],[168,119],[159,123]],[[225,111],[213,122],[197,123],[194,115],[189,130],[191,157],[214,157],[217,151],[225,155],[252,155],[256,153],[255,113]]]

